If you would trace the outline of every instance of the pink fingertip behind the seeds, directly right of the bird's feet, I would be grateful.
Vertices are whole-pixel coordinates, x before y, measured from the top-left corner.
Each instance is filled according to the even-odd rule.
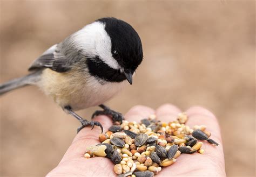
[[[129,122],[140,122],[141,119],[148,118],[150,115],[154,114],[155,111],[152,108],[145,107],[143,105],[136,105],[132,107],[126,114],[125,119]]]

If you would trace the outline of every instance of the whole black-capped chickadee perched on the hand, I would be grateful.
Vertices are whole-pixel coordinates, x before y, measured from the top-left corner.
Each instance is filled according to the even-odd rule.
[[[107,115],[113,122],[124,117],[104,103],[125,86],[143,60],[142,41],[136,30],[121,19],[104,17],[85,25],[62,42],[47,49],[29,67],[29,74],[0,84],[0,95],[28,85],[39,87],[67,114],[92,129],[100,122],[93,117]],[[91,121],[75,111],[99,106]]]

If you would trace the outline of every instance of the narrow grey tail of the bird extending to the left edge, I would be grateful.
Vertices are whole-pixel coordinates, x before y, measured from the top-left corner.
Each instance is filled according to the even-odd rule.
[[[8,91],[36,83],[40,79],[41,73],[42,71],[38,70],[37,72],[31,73],[24,77],[19,77],[17,79],[0,84],[0,95],[5,94]]]

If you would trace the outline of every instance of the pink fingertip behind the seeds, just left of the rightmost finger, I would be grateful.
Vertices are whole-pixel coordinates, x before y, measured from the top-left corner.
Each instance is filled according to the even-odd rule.
[[[166,123],[174,121],[181,110],[172,104],[163,104],[156,110],[157,119]]]

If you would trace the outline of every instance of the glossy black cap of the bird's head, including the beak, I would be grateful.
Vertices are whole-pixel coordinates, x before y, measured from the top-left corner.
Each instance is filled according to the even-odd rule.
[[[131,25],[116,18],[100,18],[111,39],[111,53],[122,69],[119,80],[132,84],[132,75],[143,60],[142,41]]]

